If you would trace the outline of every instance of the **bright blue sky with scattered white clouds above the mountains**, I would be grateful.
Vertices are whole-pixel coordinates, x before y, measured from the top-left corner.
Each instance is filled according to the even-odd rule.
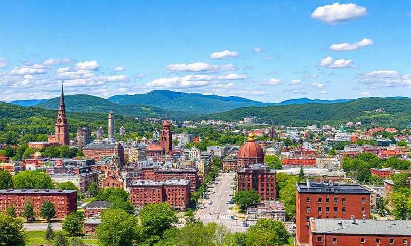
[[[2,1],[0,101],[409,96],[410,30],[409,0]]]

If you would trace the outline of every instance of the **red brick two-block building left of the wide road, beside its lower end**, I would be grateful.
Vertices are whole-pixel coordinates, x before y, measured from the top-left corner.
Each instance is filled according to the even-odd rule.
[[[186,210],[190,202],[190,183],[191,180],[187,179],[139,180],[130,185],[130,200],[137,208],[146,204],[168,202],[174,209]]]

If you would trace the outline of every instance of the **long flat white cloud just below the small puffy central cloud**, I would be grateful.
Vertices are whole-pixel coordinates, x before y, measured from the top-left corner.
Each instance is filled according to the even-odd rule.
[[[167,66],[169,71],[179,71],[179,72],[216,72],[216,71],[234,71],[237,70],[237,66],[228,63],[223,65],[212,65],[208,63],[203,63],[202,61],[198,63],[189,64],[170,64]]]

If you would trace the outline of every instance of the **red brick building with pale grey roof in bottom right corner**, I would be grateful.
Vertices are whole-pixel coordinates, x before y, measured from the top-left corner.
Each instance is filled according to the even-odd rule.
[[[310,218],[310,246],[411,245],[410,221]]]

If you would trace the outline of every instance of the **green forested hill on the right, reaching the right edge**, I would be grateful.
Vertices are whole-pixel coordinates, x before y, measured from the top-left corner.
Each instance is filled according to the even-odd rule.
[[[312,124],[337,125],[346,122],[387,125],[398,128],[411,124],[411,99],[361,98],[347,103],[292,104],[267,107],[246,107],[209,114],[204,119],[237,121],[255,116],[259,121],[293,126]]]

